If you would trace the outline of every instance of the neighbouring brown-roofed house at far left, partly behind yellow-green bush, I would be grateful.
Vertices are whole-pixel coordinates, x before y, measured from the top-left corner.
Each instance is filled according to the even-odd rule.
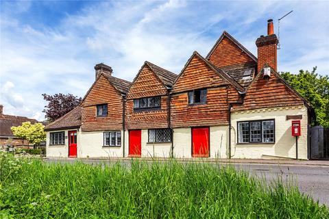
[[[37,120],[25,116],[11,116],[3,114],[3,105],[0,105],[0,148],[4,146],[29,147],[27,140],[17,138],[12,133],[11,127],[17,127],[24,122],[38,123]]]

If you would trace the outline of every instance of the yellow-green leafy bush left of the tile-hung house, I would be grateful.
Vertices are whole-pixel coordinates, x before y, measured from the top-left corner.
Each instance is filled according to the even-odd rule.
[[[21,126],[11,127],[12,133],[18,138],[28,140],[30,143],[36,145],[46,140],[45,126],[41,123],[31,124],[30,122],[22,123]]]

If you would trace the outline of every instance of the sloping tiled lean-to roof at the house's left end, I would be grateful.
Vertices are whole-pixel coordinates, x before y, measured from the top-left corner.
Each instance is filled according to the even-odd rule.
[[[77,106],[64,116],[58,118],[58,120],[50,123],[45,127],[46,131],[53,130],[53,129],[69,129],[73,127],[80,127],[81,126],[81,113],[82,107]]]

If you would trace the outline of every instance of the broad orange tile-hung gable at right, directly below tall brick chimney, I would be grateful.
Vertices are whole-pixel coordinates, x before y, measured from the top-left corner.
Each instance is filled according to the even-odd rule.
[[[294,105],[304,105],[304,99],[271,69],[268,80],[263,78],[263,72],[257,75],[247,88],[243,105],[234,107],[234,111]]]

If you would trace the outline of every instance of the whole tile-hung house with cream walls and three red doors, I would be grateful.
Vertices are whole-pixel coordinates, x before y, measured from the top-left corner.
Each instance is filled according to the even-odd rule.
[[[224,31],[178,75],[145,62],[130,83],[97,64],[80,106],[45,128],[47,157],[308,159],[314,110],[277,73],[277,44],[269,20],[257,57]]]

